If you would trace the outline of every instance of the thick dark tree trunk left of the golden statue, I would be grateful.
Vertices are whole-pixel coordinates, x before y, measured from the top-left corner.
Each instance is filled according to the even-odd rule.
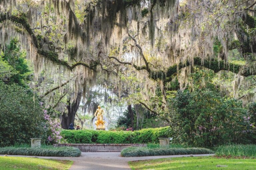
[[[79,108],[81,98],[82,98],[82,93],[78,93],[76,100],[72,104],[70,104],[70,100],[68,100],[67,102],[68,114],[67,115],[63,114],[62,120],[61,120],[61,127],[63,129],[68,129],[70,124],[74,125],[75,115],[76,115],[77,109]]]

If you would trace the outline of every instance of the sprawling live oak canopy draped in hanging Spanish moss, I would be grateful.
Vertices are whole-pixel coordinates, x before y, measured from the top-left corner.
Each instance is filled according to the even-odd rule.
[[[65,98],[67,115],[74,116],[77,109],[72,106],[79,106],[83,89],[99,83],[100,75],[119,91],[135,87],[136,93],[128,95],[131,103],[161,117],[168,91],[186,88],[194,66],[255,75],[255,4],[253,0],[2,0],[1,44],[20,37],[36,79],[43,70],[59,73],[52,79],[59,88],[39,91],[49,92],[47,98],[60,89],[53,105]],[[229,51],[234,49],[244,64],[230,61]],[[129,83],[131,76],[135,84]]]

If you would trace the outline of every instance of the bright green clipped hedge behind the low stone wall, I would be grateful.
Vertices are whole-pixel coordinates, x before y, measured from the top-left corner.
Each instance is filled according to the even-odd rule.
[[[62,130],[68,143],[158,143],[158,137],[171,137],[170,127],[136,131]]]

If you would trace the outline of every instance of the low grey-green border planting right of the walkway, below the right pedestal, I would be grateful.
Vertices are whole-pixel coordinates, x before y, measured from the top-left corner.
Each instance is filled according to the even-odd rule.
[[[160,156],[160,155],[188,155],[188,154],[211,154],[214,151],[206,148],[147,148],[128,147],[121,151],[123,157],[135,156]]]

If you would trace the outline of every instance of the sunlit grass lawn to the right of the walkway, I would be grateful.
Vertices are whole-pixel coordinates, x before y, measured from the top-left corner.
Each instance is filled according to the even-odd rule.
[[[255,170],[256,159],[181,157],[131,161],[129,165],[132,170]]]

